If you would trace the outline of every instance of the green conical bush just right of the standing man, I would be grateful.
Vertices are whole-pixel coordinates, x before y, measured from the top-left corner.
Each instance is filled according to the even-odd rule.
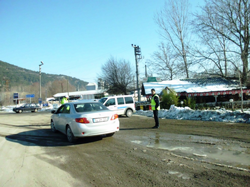
[[[162,93],[161,108],[169,109],[171,105],[178,105],[179,97],[175,91],[163,90]]]

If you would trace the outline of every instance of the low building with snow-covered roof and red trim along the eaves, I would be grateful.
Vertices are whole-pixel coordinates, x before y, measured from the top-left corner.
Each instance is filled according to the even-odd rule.
[[[142,84],[142,95],[151,96],[151,89],[154,88],[157,94],[161,94],[165,88],[174,90],[180,100],[187,97],[194,97],[196,103],[224,102],[233,99],[241,99],[241,88],[239,81],[227,80],[221,77],[202,79],[180,79],[161,82],[145,82]],[[248,99],[250,89],[242,88],[243,99]]]

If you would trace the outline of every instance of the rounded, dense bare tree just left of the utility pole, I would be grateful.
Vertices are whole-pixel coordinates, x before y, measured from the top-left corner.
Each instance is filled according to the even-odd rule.
[[[109,93],[127,94],[128,87],[133,83],[133,72],[130,63],[111,57],[102,66],[101,78],[109,84]]]

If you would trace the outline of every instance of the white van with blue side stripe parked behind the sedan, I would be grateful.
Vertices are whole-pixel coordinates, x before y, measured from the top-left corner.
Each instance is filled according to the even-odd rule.
[[[135,101],[132,95],[103,97],[99,102],[109,110],[116,110],[118,115],[130,117],[135,112]]]

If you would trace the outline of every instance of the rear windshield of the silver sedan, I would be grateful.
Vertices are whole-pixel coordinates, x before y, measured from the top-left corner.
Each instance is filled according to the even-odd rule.
[[[74,104],[76,112],[94,112],[101,110],[108,110],[107,107],[101,103],[77,103]]]

